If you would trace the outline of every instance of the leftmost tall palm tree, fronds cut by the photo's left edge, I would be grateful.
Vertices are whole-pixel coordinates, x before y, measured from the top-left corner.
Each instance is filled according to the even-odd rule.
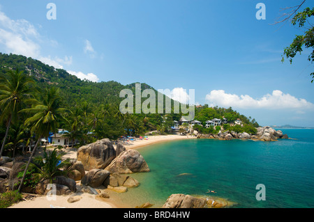
[[[20,111],[21,105],[26,102],[33,88],[29,87],[33,84],[33,80],[26,74],[19,70],[10,70],[0,82],[0,106],[1,116],[0,122],[6,120],[6,135],[3,138],[0,158],[6,144],[6,138],[8,136],[8,130],[12,121],[17,119],[17,112]]]

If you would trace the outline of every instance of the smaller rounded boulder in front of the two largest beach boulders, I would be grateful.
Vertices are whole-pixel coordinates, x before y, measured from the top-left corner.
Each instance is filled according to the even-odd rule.
[[[93,169],[89,171],[81,180],[81,183],[85,186],[90,187],[100,187],[101,184],[106,180],[106,178],[110,175],[109,171],[101,170],[101,169]]]

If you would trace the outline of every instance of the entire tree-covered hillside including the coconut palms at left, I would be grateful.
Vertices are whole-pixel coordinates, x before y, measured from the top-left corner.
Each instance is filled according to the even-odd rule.
[[[83,81],[25,56],[0,53],[0,77],[1,144],[4,150],[13,152],[21,144],[36,140],[38,135],[47,137],[58,128],[66,129],[67,136],[81,144],[98,138],[143,135],[152,130],[170,133],[173,121],[182,116],[173,113],[173,106],[168,114],[121,114],[119,104],[124,98],[119,93],[123,89],[135,93],[135,84]],[[142,84],[144,89],[154,90]],[[201,122],[223,117],[230,123],[240,118],[246,126],[258,126],[254,119],[231,107],[209,108],[205,104],[195,108],[195,119]]]

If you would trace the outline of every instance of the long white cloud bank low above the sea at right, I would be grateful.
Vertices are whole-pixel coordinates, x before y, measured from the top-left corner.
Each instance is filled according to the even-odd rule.
[[[235,95],[225,93],[225,90],[212,90],[206,95],[210,106],[223,106],[240,109],[314,109],[314,104],[304,99],[298,99],[281,90],[274,90],[260,99],[253,99],[249,95]]]

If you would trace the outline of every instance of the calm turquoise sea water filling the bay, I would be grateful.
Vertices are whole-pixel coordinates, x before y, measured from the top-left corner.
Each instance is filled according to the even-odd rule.
[[[314,207],[314,129],[282,129],[295,139],[274,142],[195,139],[141,148],[150,173],[122,200],[162,206],[172,193],[227,198],[235,207]],[[185,173],[186,175],[181,175]],[[266,200],[257,201],[257,184]]]

